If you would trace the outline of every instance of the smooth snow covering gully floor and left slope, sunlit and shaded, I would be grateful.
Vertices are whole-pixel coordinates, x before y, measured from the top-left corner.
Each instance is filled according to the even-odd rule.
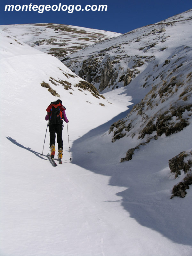
[[[191,148],[191,124],[120,163],[122,151],[138,140],[111,143],[108,129],[129,112],[132,94],[118,88],[104,100],[51,84],[50,77],[72,84],[82,79],[14,39],[1,32],[0,255],[190,256],[192,189],[183,199],[170,199],[182,175],[173,179],[168,160]],[[73,160],[64,124],[63,164],[57,167],[46,156],[49,132],[41,156],[46,108],[56,99],[42,81],[60,94],[69,119]]]

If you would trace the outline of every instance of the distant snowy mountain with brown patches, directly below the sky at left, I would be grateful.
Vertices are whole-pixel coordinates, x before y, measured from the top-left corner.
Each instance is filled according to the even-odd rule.
[[[0,29],[16,39],[62,60],[102,40],[119,36],[120,33],[63,24],[15,24],[1,25]]]

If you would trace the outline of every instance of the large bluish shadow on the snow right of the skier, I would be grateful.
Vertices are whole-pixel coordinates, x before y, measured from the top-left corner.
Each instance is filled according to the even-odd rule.
[[[191,203],[190,196],[186,196],[185,199],[170,199],[172,184],[177,182],[169,180],[167,176],[161,176],[162,170],[168,168],[168,160],[172,158],[173,152],[158,151],[160,150],[158,147],[160,141],[154,141],[152,149],[150,149],[151,146],[146,145],[143,150],[140,149],[133,156],[131,161],[124,163],[106,164],[104,160],[100,162],[98,159],[98,163],[94,164],[95,160],[91,159],[94,156],[85,154],[86,150],[87,153],[93,153],[90,151],[90,146],[86,148],[86,143],[92,136],[102,135],[108,131],[111,124],[125,117],[129,111],[130,109],[126,110],[75,140],[71,150],[74,159],[72,163],[89,171],[110,176],[109,185],[111,186],[127,188],[116,195],[122,198],[124,209],[142,226],[160,232],[175,243],[192,245],[192,224],[189,221],[191,213],[187,207]],[[97,143],[102,144],[101,140],[102,137]],[[82,152],[82,148],[84,152]],[[128,149],[129,146],[127,146]],[[145,153],[146,150],[147,153]],[[100,152],[97,154],[99,158]]]

